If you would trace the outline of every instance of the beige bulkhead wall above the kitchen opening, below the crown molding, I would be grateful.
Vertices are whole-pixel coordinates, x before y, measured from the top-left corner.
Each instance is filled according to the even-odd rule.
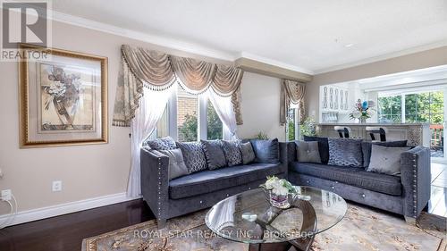
[[[447,64],[447,46],[375,63],[367,63],[340,71],[317,74],[307,85],[308,113],[315,113],[315,119],[318,120],[319,87],[322,85],[372,78],[401,71],[413,71],[443,64]]]

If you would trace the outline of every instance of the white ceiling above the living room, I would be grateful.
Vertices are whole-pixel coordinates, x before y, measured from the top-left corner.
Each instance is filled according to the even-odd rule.
[[[243,55],[308,73],[447,45],[446,0],[57,0],[52,4],[57,13],[170,42],[162,46],[197,46],[199,54],[223,59]]]

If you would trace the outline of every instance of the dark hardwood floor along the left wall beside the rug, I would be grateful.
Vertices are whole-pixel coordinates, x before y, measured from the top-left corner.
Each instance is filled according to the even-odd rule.
[[[83,238],[154,219],[142,199],[0,230],[1,251],[80,251]]]

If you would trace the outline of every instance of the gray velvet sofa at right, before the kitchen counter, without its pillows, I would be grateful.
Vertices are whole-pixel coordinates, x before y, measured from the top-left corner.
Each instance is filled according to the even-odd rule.
[[[416,146],[401,154],[401,176],[365,168],[297,162],[296,144],[288,144],[292,184],[323,188],[345,199],[405,216],[414,223],[430,199],[430,149]]]

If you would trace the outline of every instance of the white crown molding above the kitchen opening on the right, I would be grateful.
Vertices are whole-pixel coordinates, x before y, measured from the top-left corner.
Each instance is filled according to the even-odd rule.
[[[333,66],[333,67],[328,67],[328,68],[316,70],[316,71],[314,71],[314,73],[315,74],[322,74],[322,73],[326,73],[326,72],[330,72],[330,71],[344,70],[344,69],[348,69],[348,68],[351,68],[351,67],[356,67],[356,66],[359,66],[359,65],[367,64],[367,63],[375,63],[375,62],[379,62],[379,61],[384,61],[384,60],[387,60],[387,59],[392,59],[392,58],[395,58],[395,57],[408,55],[408,54],[415,54],[415,53],[419,53],[419,52],[423,52],[423,51],[427,51],[427,50],[431,50],[431,49],[435,49],[435,48],[439,48],[439,47],[443,47],[443,46],[447,46],[447,39],[446,40],[437,41],[437,42],[434,42],[434,43],[431,43],[431,44],[427,44],[427,45],[424,45],[424,46],[416,46],[416,47],[412,47],[412,48],[401,50],[401,51],[394,52],[394,53],[382,54],[382,55],[370,57],[370,58],[367,58],[367,59],[362,59],[362,60],[359,60],[359,61],[356,61],[356,62],[353,62],[353,63],[344,63],[344,64],[336,65],[336,66]]]

